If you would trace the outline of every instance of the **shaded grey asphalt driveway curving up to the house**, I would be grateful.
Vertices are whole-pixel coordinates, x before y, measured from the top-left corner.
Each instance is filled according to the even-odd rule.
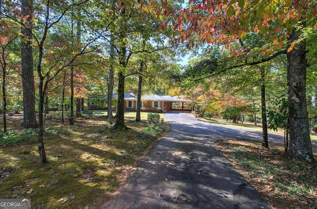
[[[103,209],[269,209],[214,146],[262,134],[213,125],[188,113],[165,113],[171,129],[133,169]],[[283,137],[270,135],[283,142]]]

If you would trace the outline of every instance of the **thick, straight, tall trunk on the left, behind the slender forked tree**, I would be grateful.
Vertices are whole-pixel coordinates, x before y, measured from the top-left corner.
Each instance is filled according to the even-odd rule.
[[[23,88],[23,123],[25,128],[38,127],[35,116],[35,87],[32,49],[32,6],[33,0],[21,0],[21,15],[26,17],[21,27],[21,68]]]

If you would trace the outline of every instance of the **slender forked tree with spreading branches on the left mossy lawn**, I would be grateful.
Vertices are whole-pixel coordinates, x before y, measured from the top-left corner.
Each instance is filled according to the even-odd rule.
[[[73,53],[73,48],[75,45],[67,42],[68,39],[65,37],[64,42],[56,43],[52,38],[50,31],[54,28],[55,31],[58,30],[58,24],[62,24],[62,19],[65,14],[73,7],[82,6],[87,3],[87,0],[82,0],[77,3],[69,3],[66,1],[61,2],[57,5],[48,0],[45,4],[38,4],[37,15],[40,20],[37,27],[41,27],[37,32],[31,33],[31,36],[36,37],[35,42],[37,46],[37,76],[38,76],[38,86],[39,86],[39,127],[38,127],[38,149],[40,153],[41,164],[48,163],[44,147],[44,123],[43,123],[43,110],[44,110],[44,100],[48,92],[48,86],[56,78],[56,76],[65,68],[71,67],[75,59],[81,55],[85,55],[93,52],[99,45],[92,45],[98,37],[87,36],[87,42],[84,45],[78,46],[80,50]],[[60,27],[60,26],[59,26]],[[47,44],[48,41],[52,44]],[[51,47],[51,46],[55,47]],[[46,62],[44,62],[44,60]],[[76,63],[79,65],[80,63]]]

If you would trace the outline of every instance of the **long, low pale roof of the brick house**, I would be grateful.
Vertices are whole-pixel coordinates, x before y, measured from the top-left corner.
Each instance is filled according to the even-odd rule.
[[[108,96],[105,96],[105,99]],[[112,94],[114,100],[118,99],[118,94]],[[137,95],[134,93],[125,93],[124,100],[137,100]],[[145,94],[141,96],[143,101],[165,101],[165,102],[190,102],[190,100],[182,99],[179,96],[168,96],[168,95],[158,95],[158,94]]]

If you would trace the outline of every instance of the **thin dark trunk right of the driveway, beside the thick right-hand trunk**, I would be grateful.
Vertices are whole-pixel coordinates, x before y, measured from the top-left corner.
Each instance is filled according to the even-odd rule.
[[[262,146],[268,148],[264,68],[261,67]]]

